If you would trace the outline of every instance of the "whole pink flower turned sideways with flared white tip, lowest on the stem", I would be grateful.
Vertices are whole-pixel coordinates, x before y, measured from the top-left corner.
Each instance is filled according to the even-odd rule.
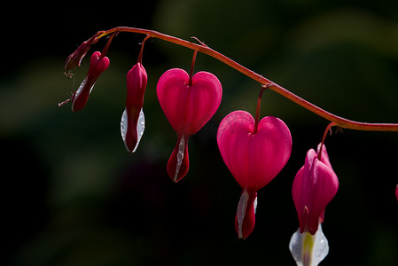
[[[338,189],[339,180],[321,143],[317,152],[308,151],[304,166],[293,181],[293,201],[300,227],[293,234],[289,249],[298,266],[316,266],[329,253],[321,224],[324,209]]]

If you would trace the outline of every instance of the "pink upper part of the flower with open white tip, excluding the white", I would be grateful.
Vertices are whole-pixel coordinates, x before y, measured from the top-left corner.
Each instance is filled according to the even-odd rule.
[[[319,159],[321,147],[318,145],[317,153],[313,149],[308,151],[305,164],[293,181],[293,201],[299,216],[300,233],[316,233],[318,224],[324,222],[324,208],[339,189],[339,179],[332,169],[325,146]]]

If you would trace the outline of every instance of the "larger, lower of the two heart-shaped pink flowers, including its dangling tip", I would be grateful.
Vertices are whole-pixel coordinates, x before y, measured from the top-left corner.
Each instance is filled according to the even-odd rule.
[[[228,114],[220,123],[217,143],[227,167],[242,188],[235,219],[238,237],[254,229],[257,191],[285,167],[292,137],[283,121],[267,116],[254,133],[254,118],[245,111]]]

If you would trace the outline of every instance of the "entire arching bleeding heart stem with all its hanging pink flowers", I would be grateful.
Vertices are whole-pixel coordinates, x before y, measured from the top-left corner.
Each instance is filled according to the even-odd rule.
[[[324,145],[327,133],[334,126],[339,128],[373,131],[398,131],[397,123],[366,123],[351,121],[329,113],[303,98],[286,90],[261,74],[222,55],[200,42],[191,43],[175,36],[136,27],[114,27],[98,31],[83,42],[67,59],[64,73],[68,78],[73,70],[81,66],[82,59],[91,45],[102,37],[108,41],[102,52],[95,51],[90,57],[90,68],[80,87],[71,98],[59,104],[72,103],[72,111],[82,110],[100,74],[110,65],[106,53],[113,37],[121,32],[145,35],[137,63],[131,67],[126,78],[127,95],[121,115],[121,138],[129,153],[134,153],[144,134],[144,92],[148,76],[143,66],[144,43],[149,38],[159,38],[193,51],[190,72],[181,68],[168,69],[159,78],[156,94],[160,107],[171,127],[176,131],[176,146],[167,165],[167,173],[173,182],[179,182],[189,170],[189,138],[197,133],[214,116],[222,101],[222,83],[206,71],[194,73],[199,52],[218,59],[247,77],[261,84],[255,118],[252,114],[237,110],[226,115],[217,130],[217,145],[231,176],[235,178],[242,192],[238,200],[235,228],[239,239],[246,239],[253,231],[258,191],[275,178],[285,167],[292,153],[292,136],[285,122],[275,116],[260,119],[261,97],[265,89],[276,91],[294,103],[316,113],[331,123],[324,131],[324,137],[317,149],[309,149],[304,165],[293,180],[292,195],[297,211],[299,229],[293,234],[289,248],[297,265],[316,266],[328,254],[328,241],[322,231],[325,207],[332,201],[339,189],[335,174]],[[398,185],[395,189],[398,200]]]

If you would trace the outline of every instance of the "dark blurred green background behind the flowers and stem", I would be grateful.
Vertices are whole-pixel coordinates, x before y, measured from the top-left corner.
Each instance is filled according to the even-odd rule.
[[[226,114],[254,113],[260,85],[199,54],[195,70],[218,76],[222,104],[191,137],[189,174],[173,184],[166,165],[176,135],[155,88],[168,68],[188,70],[192,52],[160,40],[145,45],[146,128],[137,153],[129,154],[120,120],[126,74],[142,35],[113,40],[111,66],[81,112],[57,106],[89,66],[86,58],[67,80],[66,57],[98,30],[129,26],[186,40],[196,36],[332,113],[398,122],[397,1],[11,5],[2,18],[0,66],[2,265],[294,265],[288,243],[298,221],[291,185],[328,121],[273,91],[264,93],[261,116],[285,121],[293,152],[259,192],[253,234],[239,240],[234,217],[240,188],[222,162],[215,134]],[[90,53],[104,45],[101,40]],[[321,265],[398,265],[398,133],[347,129],[327,137],[326,145],[340,186],[325,214],[330,253]]]

